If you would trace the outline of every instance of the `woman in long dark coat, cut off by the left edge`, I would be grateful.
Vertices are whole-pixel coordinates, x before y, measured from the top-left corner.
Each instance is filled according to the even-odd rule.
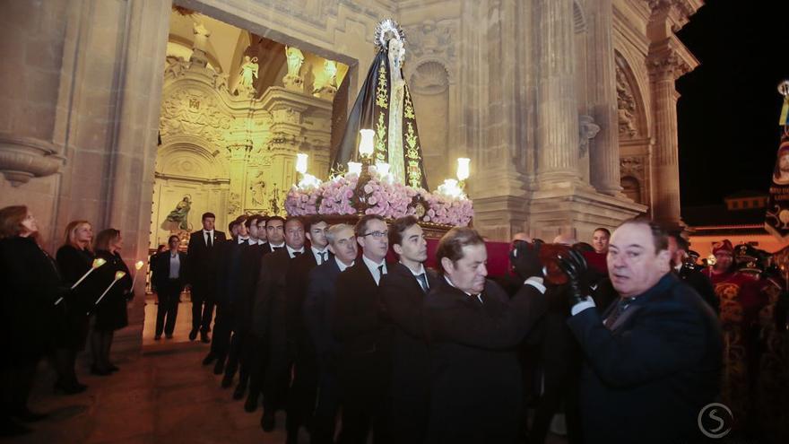
[[[38,231],[26,206],[0,209],[0,436],[30,431],[13,418],[30,422],[45,416],[30,412],[27,402],[61,287],[55,261],[36,241]]]

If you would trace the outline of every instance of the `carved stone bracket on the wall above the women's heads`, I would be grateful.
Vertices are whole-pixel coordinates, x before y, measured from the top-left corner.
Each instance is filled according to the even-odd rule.
[[[27,137],[0,135],[0,171],[13,187],[31,178],[42,178],[60,170],[65,158],[56,146]]]

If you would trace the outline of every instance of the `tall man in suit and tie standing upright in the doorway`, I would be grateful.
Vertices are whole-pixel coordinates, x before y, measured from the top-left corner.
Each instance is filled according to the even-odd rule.
[[[214,231],[216,216],[203,214],[203,230],[195,231],[189,238],[186,253],[191,261],[188,282],[192,286],[192,331],[189,340],[194,341],[197,332],[200,340],[208,343],[213,304],[216,297],[216,254],[217,243],[225,240],[225,233]]]

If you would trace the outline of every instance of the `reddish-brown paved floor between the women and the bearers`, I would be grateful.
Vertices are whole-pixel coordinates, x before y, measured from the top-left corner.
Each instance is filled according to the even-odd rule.
[[[156,305],[149,300],[146,320],[155,319]],[[281,443],[285,441],[284,414],[277,414],[277,428],[264,433],[261,410],[247,414],[243,401],[231,398],[232,389],[220,387],[220,376],[201,361],[207,344],[189,342],[191,304],[180,305],[175,337],[153,340],[152,322],[143,329],[141,356],[116,356],[121,368],[113,376],[92,376],[81,363],[80,379],[90,387],[76,396],[52,395],[51,370],[39,369],[30,408],[50,417],[35,423],[34,431],[13,442],[85,444],[198,444]],[[301,442],[308,442],[302,431]],[[552,444],[564,442],[555,436]]]

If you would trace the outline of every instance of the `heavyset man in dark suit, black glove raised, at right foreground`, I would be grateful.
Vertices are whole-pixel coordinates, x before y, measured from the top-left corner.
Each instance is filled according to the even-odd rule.
[[[665,231],[635,219],[613,232],[607,258],[620,300],[601,317],[582,300],[568,260],[573,317],[568,325],[584,350],[581,409],[585,442],[697,442],[704,407],[720,383],[722,339],[715,313],[671,273]],[[716,426],[717,424],[715,424]]]

